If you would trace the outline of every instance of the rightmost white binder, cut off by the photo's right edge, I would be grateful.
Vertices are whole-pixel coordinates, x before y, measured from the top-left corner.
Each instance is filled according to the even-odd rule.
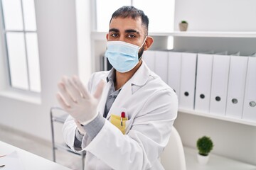
[[[242,119],[256,121],[256,57],[248,58]]]

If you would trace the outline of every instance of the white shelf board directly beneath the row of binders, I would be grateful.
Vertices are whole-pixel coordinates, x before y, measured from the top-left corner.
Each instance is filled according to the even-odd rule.
[[[229,122],[233,122],[233,123],[240,123],[243,125],[256,126],[255,122],[252,122],[249,120],[237,119],[237,118],[229,118],[229,117],[226,117],[225,115],[214,115],[214,114],[204,113],[204,112],[200,112],[200,111],[190,111],[190,110],[186,110],[183,108],[179,108],[178,112],[187,113],[187,114],[191,114],[191,115],[200,115],[200,116],[203,116],[206,118],[215,118],[218,120],[225,120],[225,121],[229,121]]]

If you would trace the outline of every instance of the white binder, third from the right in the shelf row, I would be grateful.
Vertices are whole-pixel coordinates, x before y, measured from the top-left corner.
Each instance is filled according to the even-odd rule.
[[[213,74],[210,92],[210,113],[225,115],[228,91],[229,55],[213,56]]]

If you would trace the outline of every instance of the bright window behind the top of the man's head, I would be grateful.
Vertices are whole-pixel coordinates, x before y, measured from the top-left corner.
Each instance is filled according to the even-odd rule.
[[[174,31],[175,0],[97,0],[97,31],[108,30],[112,13],[124,5],[142,9],[149,17],[149,33],[171,33]]]

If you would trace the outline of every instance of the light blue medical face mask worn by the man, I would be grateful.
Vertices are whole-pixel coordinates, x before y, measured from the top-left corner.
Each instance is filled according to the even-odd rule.
[[[117,72],[129,72],[139,62],[138,52],[141,47],[123,41],[108,41],[105,56]]]

